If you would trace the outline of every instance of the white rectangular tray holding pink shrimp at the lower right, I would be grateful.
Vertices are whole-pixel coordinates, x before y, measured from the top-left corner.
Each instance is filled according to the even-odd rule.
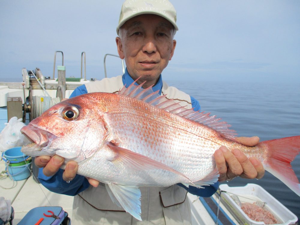
[[[227,184],[221,184],[219,188],[221,191],[225,191],[221,192],[221,196],[226,199],[227,203],[229,203],[230,206],[235,209],[235,212],[238,212],[239,216],[243,217],[248,224],[254,225],[265,223],[251,220],[237,203],[235,203],[231,195],[237,195],[242,202],[266,202],[265,209],[270,211],[277,219],[281,220],[282,223],[279,223],[281,225],[292,224],[298,220],[295,214],[257,184],[247,184],[244,187],[229,187]]]

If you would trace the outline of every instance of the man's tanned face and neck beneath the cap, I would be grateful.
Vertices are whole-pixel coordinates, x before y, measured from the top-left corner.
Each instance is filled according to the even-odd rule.
[[[171,60],[176,41],[173,25],[161,16],[143,14],[129,19],[116,38],[120,58],[125,58],[127,70],[144,88],[155,84]]]

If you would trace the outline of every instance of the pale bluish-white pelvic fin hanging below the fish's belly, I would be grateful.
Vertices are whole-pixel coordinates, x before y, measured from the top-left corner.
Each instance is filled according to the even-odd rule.
[[[110,190],[108,190],[109,186]],[[109,183],[105,185],[107,188],[107,191],[110,195],[110,198],[113,202],[118,202],[121,205],[124,210],[128,213],[130,213],[133,217],[135,217],[138,220],[142,220],[141,218],[141,191],[138,187],[133,186],[125,186],[120,184],[114,184]],[[113,193],[113,197],[112,194]]]

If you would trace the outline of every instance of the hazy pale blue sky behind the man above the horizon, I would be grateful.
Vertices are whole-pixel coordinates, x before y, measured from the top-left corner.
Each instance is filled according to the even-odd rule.
[[[122,2],[0,0],[0,80],[21,81],[23,67],[52,77],[56,50],[67,77],[80,76],[85,51],[87,77],[103,78]],[[164,79],[300,82],[300,1],[171,2],[179,31]],[[107,70],[121,74],[121,61],[107,58]]]

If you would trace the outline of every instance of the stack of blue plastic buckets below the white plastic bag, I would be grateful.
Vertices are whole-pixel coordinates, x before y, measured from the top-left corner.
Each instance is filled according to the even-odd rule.
[[[7,162],[9,161],[10,164],[16,164],[25,161],[28,159],[29,156],[23,154],[21,152],[21,147],[15,147],[11,149],[7,149],[2,154],[2,159]],[[8,164],[8,162],[7,162]],[[20,181],[28,178],[30,176],[30,168],[31,168],[31,161],[29,163],[26,163],[25,165],[21,166],[8,166],[7,169],[10,175],[12,176],[13,180]]]

